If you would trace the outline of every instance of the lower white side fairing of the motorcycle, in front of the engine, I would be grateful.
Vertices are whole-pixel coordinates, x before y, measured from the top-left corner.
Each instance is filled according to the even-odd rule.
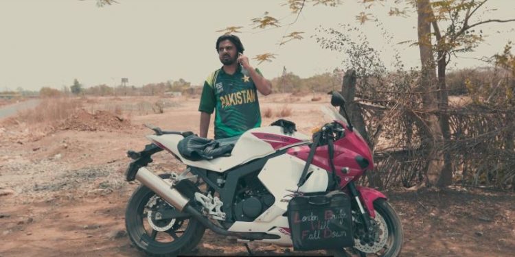
[[[288,200],[291,191],[297,191],[297,183],[304,169],[304,160],[300,160],[289,154],[283,154],[271,158],[266,162],[258,175],[259,180],[266,189],[275,197],[275,203],[253,222],[236,221],[229,231],[234,232],[266,232],[277,234],[281,238],[276,240],[264,240],[277,245],[292,245],[288,232],[283,228],[289,228],[288,217],[282,216],[288,208]],[[328,172],[314,165],[310,165],[308,173],[312,173],[308,180],[299,188],[303,193],[324,192],[328,187]]]

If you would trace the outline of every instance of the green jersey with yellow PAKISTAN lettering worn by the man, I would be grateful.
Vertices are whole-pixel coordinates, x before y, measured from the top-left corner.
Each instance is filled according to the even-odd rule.
[[[258,69],[255,71],[261,74]],[[233,75],[218,69],[207,77],[198,110],[211,114],[215,109],[216,139],[239,136],[260,127],[258,93],[248,71],[238,66]]]

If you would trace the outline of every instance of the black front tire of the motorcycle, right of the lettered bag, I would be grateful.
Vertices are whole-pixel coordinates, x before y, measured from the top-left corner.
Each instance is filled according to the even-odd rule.
[[[402,224],[395,210],[385,199],[376,199],[374,201],[374,209],[376,210],[376,223],[378,223],[381,244],[376,252],[362,252],[360,249],[363,247],[352,247],[348,252],[345,249],[328,250],[328,254],[333,256],[383,256],[393,257],[398,256],[402,249],[402,241],[404,234],[402,232]],[[385,232],[385,234],[381,234]],[[383,236],[387,236],[384,238]],[[357,240],[357,239],[356,239]],[[384,242],[384,243],[382,243]],[[356,241],[358,244],[358,241]],[[350,255],[349,252],[352,254]]]

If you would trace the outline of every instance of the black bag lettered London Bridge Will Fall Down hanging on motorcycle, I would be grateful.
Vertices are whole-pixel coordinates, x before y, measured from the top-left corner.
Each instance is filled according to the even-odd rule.
[[[350,197],[341,191],[294,197],[288,204],[288,223],[295,250],[354,245]]]

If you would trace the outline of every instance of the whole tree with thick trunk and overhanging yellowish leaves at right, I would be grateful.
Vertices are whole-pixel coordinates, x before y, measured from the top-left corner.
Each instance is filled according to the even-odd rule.
[[[366,8],[371,8],[374,3],[388,0],[367,0]],[[485,6],[488,0],[391,0],[394,3],[404,3],[415,8],[417,13],[417,42],[420,50],[421,80],[420,90],[423,94],[422,105],[426,110],[438,110],[439,115],[428,113],[423,117],[427,124],[425,130],[425,143],[429,153],[434,156],[427,164],[428,185],[446,186],[452,182],[452,167],[450,167],[450,156],[444,152],[444,143],[450,139],[450,128],[448,124],[448,92],[446,88],[446,67],[451,56],[455,53],[472,51],[483,40],[482,31],[477,32],[474,28],[486,23],[506,23],[515,19],[484,19],[470,24],[471,17],[477,14],[481,7]],[[292,12],[300,14],[307,0],[288,0],[287,3]],[[313,0],[317,4],[336,6],[340,5],[338,0]],[[406,8],[393,8],[390,15],[405,16]],[[361,12],[356,16],[358,21],[365,23],[371,14]],[[269,17],[253,19],[253,22],[260,23],[263,27],[277,23]],[[442,32],[441,23],[448,23]],[[431,29],[433,28],[433,30]],[[298,32],[295,32],[298,33]],[[288,36],[286,36],[288,37]],[[433,38],[435,43],[433,43]],[[284,38],[283,38],[284,39]],[[283,40],[284,42],[284,40]],[[436,56],[436,59],[435,59]],[[437,70],[435,70],[437,68]]]

